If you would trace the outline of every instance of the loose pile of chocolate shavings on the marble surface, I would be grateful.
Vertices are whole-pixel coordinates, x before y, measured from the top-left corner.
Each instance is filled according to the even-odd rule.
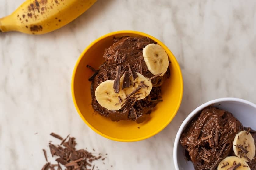
[[[55,133],[51,133],[52,136],[55,138],[58,138],[62,140],[63,138]],[[52,154],[52,157],[58,156],[56,159],[57,164],[51,164],[50,162],[47,162],[42,170],[62,170],[62,167],[60,164],[62,164],[65,168],[65,170],[94,170],[95,165],[92,167],[92,162],[95,160],[99,160],[102,158],[102,154],[99,154],[99,156],[94,156],[92,153],[88,152],[84,149],[77,150],[75,148],[76,141],[74,137],[69,137],[69,140],[66,141],[66,139],[69,137],[69,135],[62,140],[60,145],[54,145],[49,143],[49,148]],[[44,157],[47,160],[46,151],[44,151]],[[102,158],[103,161],[105,158]],[[104,163],[104,162],[103,162]],[[92,167],[92,168],[88,168]]]

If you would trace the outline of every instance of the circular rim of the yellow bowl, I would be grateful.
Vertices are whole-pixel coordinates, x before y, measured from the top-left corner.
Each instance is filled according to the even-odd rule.
[[[77,102],[76,102],[76,98],[75,98],[75,93],[74,93],[74,80],[75,80],[75,75],[76,75],[76,70],[77,70],[77,67],[80,63],[80,61],[82,60],[82,58],[84,57],[84,54],[92,47],[94,46],[97,42],[101,41],[102,39],[105,39],[106,37],[109,37],[109,36],[114,36],[114,35],[119,35],[119,34],[137,34],[137,35],[140,35],[140,36],[146,36],[146,37],[149,37],[150,39],[156,41],[159,45],[161,45],[166,51],[168,51],[168,53],[171,54],[171,58],[172,58],[172,63],[174,63],[175,66],[178,67],[178,75],[180,77],[180,84],[181,84],[181,93],[180,93],[180,96],[179,96],[179,102],[178,104],[176,105],[176,108],[174,110],[174,114],[169,118],[168,121],[166,121],[165,124],[162,125],[161,128],[159,128],[157,131],[155,131],[154,133],[151,133],[147,136],[143,136],[143,137],[140,137],[140,138],[136,138],[136,139],[119,139],[119,138],[115,138],[115,137],[111,137],[111,136],[108,136],[100,131],[98,131],[97,129],[95,129],[85,118],[84,116],[82,115],[81,111],[79,110],[78,108],[78,105],[77,105]],[[156,134],[158,134],[160,131],[162,131],[171,121],[172,119],[175,117],[175,115],[177,114],[179,108],[180,108],[180,104],[181,104],[181,101],[182,101],[182,97],[183,97],[183,77],[182,77],[182,73],[181,73],[181,69],[180,69],[180,65],[179,63],[177,62],[175,56],[172,54],[171,50],[168,49],[167,46],[165,46],[164,43],[162,43],[160,40],[156,39],[155,37],[153,36],[150,36],[144,32],[139,32],[139,31],[133,31],[133,30],[122,30],[122,31],[116,31],[116,32],[110,32],[108,34],[105,34],[99,38],[97,38],[96,40],[94,40],[93,42],[91,42],[91,44],[89,44],[85,49],[84,51],[80,54],[79,58],[77,59],[76,61],[76,64],[75,64],[75,67],[74,67],[74,70],[73,70],[73,73],[72,73],[72,80],[71,80],[71,92],[72,92],[72,98],[73,98],[73,103],[76,107],[76,111],[78,112],[78,114],[80,115],[80,117],[82,118],[82,120],[87,124],[87,126],[89,126],[93,131],[95,131],[96,133],[100,134],[101,136],[105,137],[105,138],[108,138],[108,139],[111,139],[113,141],[119,141],[119,142],[135,142],[135,141],[141,141],[141,140],[144,140],[144,139],[147,139],[147,138],[150,138]]]

